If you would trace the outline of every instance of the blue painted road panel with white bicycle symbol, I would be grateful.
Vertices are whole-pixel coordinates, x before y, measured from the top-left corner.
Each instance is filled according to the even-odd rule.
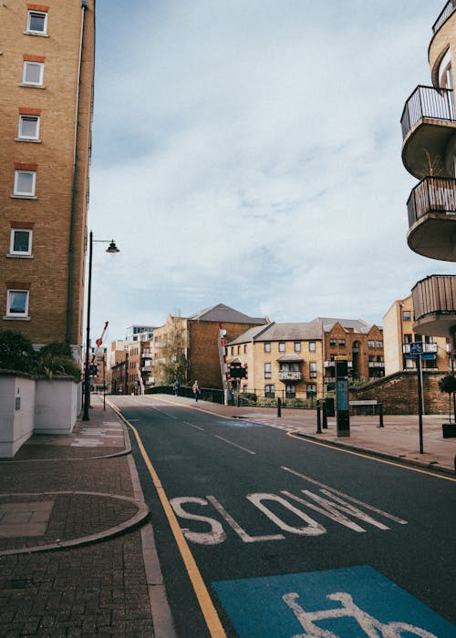
[[[371,567],[212,583],[240,638],[454,638],[456,626]]]

